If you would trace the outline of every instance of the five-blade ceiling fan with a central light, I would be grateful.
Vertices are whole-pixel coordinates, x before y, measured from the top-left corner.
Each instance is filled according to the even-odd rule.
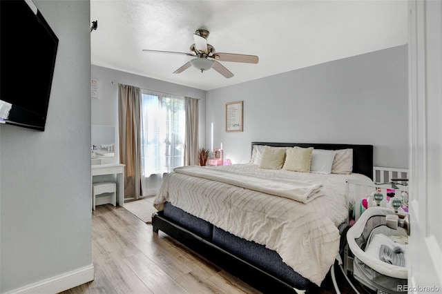
[[[191,52],[173,52],[173,51],[160,51],[160,50],[148,50],[144,49],[146,52],[157,52],[157,53],[170,53],[170,54],[179,54],[179,55],[187,55],[191,57],[196,57],[191,61],[184,64],[173,73],[180,73],[190,68],[191,66],[201,70],[209,70],[213,68],[217,72],[219,72],[224,77],[233,77],[233,73],[230,72],[227,68],[225,68],[218,61],[233,61],[233,62],[242,62],[242,63],[258,63],[258,56],[256,55],[242,55],[242,54],[233,54],[233,53],[218,53],[215,52],[215,48],[207,43],[207,37],[209,37],[208,30],[196,30],[195,34],[193,34],[193,39],[195,43],[191,45]]]

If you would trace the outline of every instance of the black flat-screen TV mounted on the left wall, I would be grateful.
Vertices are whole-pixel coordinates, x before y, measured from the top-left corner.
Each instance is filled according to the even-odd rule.
[[[32,1],[0,1],[1,123],[44,130],[58,41]]]

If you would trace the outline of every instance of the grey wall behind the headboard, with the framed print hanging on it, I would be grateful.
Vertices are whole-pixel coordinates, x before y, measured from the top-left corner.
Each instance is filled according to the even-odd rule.
[[[225,104],[244,101],[244,131],[225,133]],[[206,94],[207,146],[233,163],[251,141],[374,145],[374,165],[408,166],[407,46],[322,63]]]

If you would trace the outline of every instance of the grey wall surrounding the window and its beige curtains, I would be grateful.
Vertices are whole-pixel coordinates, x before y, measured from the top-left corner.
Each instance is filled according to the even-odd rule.
[[[118,133],[118,84],[199,99],[200,146],[206,142],[206,92],[159,79],[133,75],[120,70],[91,66],[91,78],[98,81],[98,98],[92,98],[92,124],[115,126]],[[114,82],[114,84],[112,84]],[[117,147],[118,148],[118,147]]]

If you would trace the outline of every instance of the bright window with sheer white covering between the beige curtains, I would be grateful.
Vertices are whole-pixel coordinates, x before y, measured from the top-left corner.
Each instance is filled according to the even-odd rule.
[[[142,175],[170,173],[184,165],[184,97],[142,90]]]

